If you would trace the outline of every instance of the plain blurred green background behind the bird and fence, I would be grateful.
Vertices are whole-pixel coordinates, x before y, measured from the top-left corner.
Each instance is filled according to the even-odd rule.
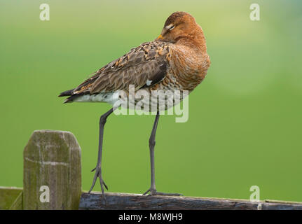
[[[39,20],[41,3],[50,21]],[[259,3],[259,22],[249,20]],[[82,148],[83,190],[97,162],[107,104],[62,104],[57,94],[130,48],[151,41],[174,11],[203,27],[212,65],[189,98],[187,123],[160,118],[156,186],[186,196],[302,201],[301,1],[0,1],[0,186],[22,187],[34,130],[67,130]],[[111,192],[150,185],[154,116],[110,116],[103,176]],[[94,190],[100,190],[99,183]]]

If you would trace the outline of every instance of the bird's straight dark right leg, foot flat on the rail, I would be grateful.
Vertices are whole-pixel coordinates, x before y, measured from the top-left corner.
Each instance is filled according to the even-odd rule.
[[[143,195],[146,195],[146,193],[149,193],[149,195],[171,195],[171,196],[180,196],[181,194],[178,193],[161,193],[156,191],[156,185],[155,185],[155,167],[154,167],[154,146],[156,144],[155,137],[156,137],[156,130],[158,125],[158,119],[159,119],[160,113],[156,113],[156,118],[154,120],[152,132],[149,139],[149,148],[150,148],[150,163],[151,163],[151,187],[146,190],[146,192]]]

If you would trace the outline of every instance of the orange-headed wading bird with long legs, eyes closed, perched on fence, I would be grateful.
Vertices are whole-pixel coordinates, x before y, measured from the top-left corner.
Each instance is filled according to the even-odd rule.
[[[149,95],[156,90],[178,90],[191,93],[204,80],[210,64],[203,29],[190,13],[177,11],[165,20],[160,35],[154,41],[144,42],[132,48],[122,57],[92,73],[90,78],[84,80],[78,87],[59,95],[59,97],[67,97],[64,103],[106,102],[112,105],[112,108],[99,118],[97,165],[92,169],[95,176],[89,193],[94,188],[97,179],[99,179],[104,197],[104,188],[108,190],[102,178],[104,125],[109,115],[121,106],[121,101],[129,100],[129,88],[132,86],[135,91],[144,91]],[[124,97],[118,93],[121,91],[125,92]],[[172,106],[175,104],[177,102],[173,102]],[[166,110],[168,107],[156,103],[156,117],[149,138],[151,186],[143,195],[148,193],[149,195],[181,195],[156,190],[154,164],[156,130],[160,108]]]

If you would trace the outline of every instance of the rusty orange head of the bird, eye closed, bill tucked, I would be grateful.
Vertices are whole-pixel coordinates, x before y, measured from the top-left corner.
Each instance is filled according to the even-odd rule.
[[[203,30],[195,22],[193,16],[185,12],[175,12],[165,21],[163,30],[156,41],[177,43],[181,38],[198,37],[203,37]]]

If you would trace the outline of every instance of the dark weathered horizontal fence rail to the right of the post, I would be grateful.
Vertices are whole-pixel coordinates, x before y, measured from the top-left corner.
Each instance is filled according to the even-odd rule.
[[[125,193],[82,193],[79,209],[163,209],[163,210],[302,210],[295,202],[249,202],[206,197],[143,196]]]

